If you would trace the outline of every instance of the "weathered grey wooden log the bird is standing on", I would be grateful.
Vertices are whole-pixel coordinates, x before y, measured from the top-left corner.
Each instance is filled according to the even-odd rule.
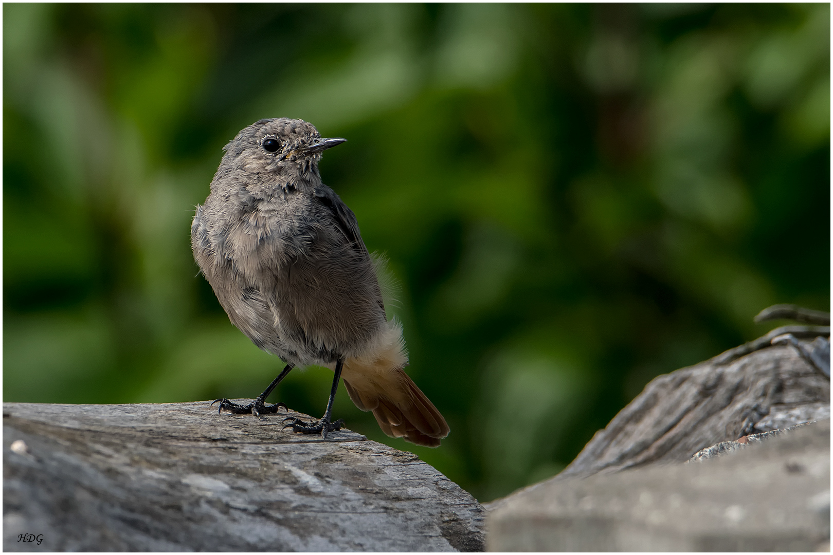
[[[3,548],[483,550],[483,508],[416,455],[284,416],[3,404]]]

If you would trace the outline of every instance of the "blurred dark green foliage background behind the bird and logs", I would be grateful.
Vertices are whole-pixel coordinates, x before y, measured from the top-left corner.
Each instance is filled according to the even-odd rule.
[[[322,176],[390,259],[451,435],[388,439],[343,388],[335,415],[481,501],[765,333],[762,308],[829,310],[830,4],[2,9],[5,401],[262,391],[282,364],[189,244],[262,117],[349,140]],[[272,400],[320,416],[331,380]]]

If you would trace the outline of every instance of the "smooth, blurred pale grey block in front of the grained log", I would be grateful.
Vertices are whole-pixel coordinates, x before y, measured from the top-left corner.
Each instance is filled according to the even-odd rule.
[[[489,515],[490,551],[830,551],[830,420],[693,463],[552,479]]]

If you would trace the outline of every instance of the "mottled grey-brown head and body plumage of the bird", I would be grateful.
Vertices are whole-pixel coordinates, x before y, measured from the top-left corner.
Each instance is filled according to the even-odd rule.
[[[273,137],[275,153],[261,146]],[[333,364],[385,322],[356,216],[321,182],[321,140],[297,120],[262,120],[225,150],[192,240],[197,264],[232,323],[285,362]]]

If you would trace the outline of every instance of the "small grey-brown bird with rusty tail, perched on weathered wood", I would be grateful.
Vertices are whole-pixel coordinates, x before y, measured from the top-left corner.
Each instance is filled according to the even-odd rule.
[[[402,370],[402,327],[385,316],[356,216],[318,173],[322,152],[344,141],[282,117],[256,121],[223,148],[191,227],[194,259],[232,324],[286,367],[252,403],[214,403],[220,412],[276,413],[286,405],[266,404],[272,389],[294,367],[318,364],[335,372],[324,416],[286,419],[287,427],[325,438],[341,429],[332,403],[343,378],[385,434],[436,447],[448,424]]]

